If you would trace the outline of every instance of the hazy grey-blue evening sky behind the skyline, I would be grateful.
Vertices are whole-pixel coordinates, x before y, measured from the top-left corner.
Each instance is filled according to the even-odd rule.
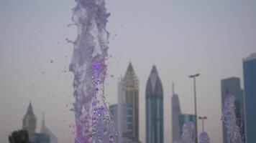
[[[140,79],[140,139],[145,142],[145,84],[157,66],[164,89],[165,142],[171,142],[171,82],[183,113],[193,113],[193,81],[198,77],[198,115],[208,116],[211,142],[221,139],[220,79],[242,78],[242,58],[256,51],[256,1],[106,0],[111,16],[106,98],[116,103],[118,77],[132,61]],[[22,127],[32,102],[40,129],[59,142],[73,142],[73,74],[68,65],[76,38],[73,0],[0,0],[0,142]],[[50,61],[53,60],[53,63]],[[67,70],[65,72],[65,70]],[[243,82],[243,80],[242,80]],[[242,84],[243,85],[243,84]],[[198,122],[198,132],[201,132]]]

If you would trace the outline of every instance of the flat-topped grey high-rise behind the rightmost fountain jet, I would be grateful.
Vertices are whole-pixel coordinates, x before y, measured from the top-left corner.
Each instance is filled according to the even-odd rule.
[[[224,102],[227,94],[232,94],[235,97],[234,114],[237,117],[237,126],[240,127],[240,134],[244,140],[244,96],[241,89],[240,79],[238,77],[230,77],[221,80],[221,109],[224,109]],[[223,142],[227,143],[227,128],[222,124]]]

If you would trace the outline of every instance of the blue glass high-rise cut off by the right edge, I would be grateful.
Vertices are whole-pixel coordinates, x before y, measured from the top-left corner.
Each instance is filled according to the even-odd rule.
[[[245,135],[247,143],[255,143],[256,131],[256,53],[243,59]]]

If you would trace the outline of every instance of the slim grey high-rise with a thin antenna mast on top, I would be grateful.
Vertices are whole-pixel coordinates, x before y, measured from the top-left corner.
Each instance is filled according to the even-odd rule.
[[[172,96],[172,133],[173,133],[173,142],[180,142],[180,126],[178,116],[180,112],[180,101],[178,99],[178,94],[174,92],[173,84],[173,96]]]

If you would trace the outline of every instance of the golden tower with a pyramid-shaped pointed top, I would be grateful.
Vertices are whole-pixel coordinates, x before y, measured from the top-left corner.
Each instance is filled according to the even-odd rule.
[[[124,76],[124,104],[132,105],[132,141],[139,142],[139,80],[129,63]]]

